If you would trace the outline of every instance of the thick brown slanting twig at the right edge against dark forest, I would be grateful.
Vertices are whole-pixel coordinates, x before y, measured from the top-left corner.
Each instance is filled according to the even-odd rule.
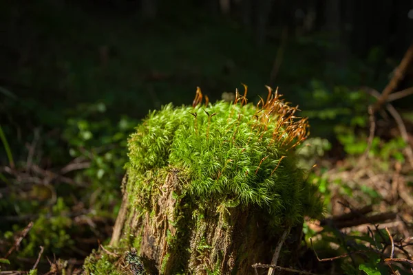
[[[394,74],[388,85],[383,89],[383,92],[381,93],[381,96],[379,96],[379,99],[377,102],[374,104],[373,111],[378,111],[381,108],[381,105],[383,105],[386,101],[388,101],[389,95],[397,88],[399,85],[400,81],[403,80],[407,69],[410,66],[410,63],[413,61],[413,43],[410,44],[410,47],[407,49],[405,52],[405,55],[403,56],[403,59],[401,60],[401,63],[399,64],[396,69],[394,69]]]

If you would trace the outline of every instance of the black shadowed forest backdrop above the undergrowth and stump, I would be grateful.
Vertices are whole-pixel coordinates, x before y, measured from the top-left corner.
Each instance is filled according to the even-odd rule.
[[[315,78],[380,91],[413,34],[407,0],[8,2],[0,85],[51,115],[103,100],[138,118],[240,82],[298,103]]]

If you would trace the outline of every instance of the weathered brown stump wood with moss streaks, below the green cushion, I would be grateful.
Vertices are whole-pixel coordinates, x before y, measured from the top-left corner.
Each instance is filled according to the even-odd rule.
[[[176,168],[160,177],[162,184],[151,193],[146,209],[132,205],[129,196],[134,195],[125,188],[112,247],[135,247],[147,269],[159,274],[253,274],[254,263],[271,263],[283,230],[271,228],[262,208],[224,207],[219,199],[183,194]],[[294,230],[288,239],[296,240],[284,244],[284,251],[291,252],[301,230]],[[281,257],[284,263],[292,260],[291,254]]]

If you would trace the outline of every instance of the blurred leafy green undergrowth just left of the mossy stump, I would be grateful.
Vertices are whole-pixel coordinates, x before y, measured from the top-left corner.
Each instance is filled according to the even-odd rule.
[[[100,197],[90,201],[97,212],[114,216],[118,207],[113,206],[118,205],[120,197],[118,183],[127,162],[127,136],[137,122],[123,116],[114,123],[106,112],[107,107],[102,102],[79,105],[69,113],[63,138],[70,146],[70,155],[87,164],[74,175],[75,181],[89,183],[86,191],[94,194],[91,199]],[[109,209],[115,212],[106,212]]]

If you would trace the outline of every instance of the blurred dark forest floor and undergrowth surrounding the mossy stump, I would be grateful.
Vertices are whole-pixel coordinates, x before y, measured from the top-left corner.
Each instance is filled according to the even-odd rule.
[[[78,274],[112,233],[134,127],[241,83],[310,118],[297,152],[326,199],[304,226],[319,254],[368,250],[303,250],[300,267],[374,274],[393,241],[392,268],[412,265],[412,0],[16,0],[0,28],[0,273]]]

